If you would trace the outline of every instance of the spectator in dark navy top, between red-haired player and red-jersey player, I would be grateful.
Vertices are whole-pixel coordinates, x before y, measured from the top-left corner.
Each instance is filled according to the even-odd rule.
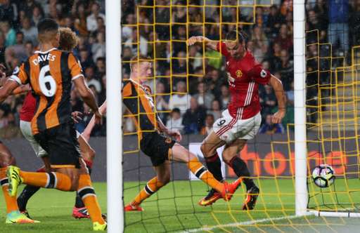
[[[195,98],[190,100],[190,108],[186,110],[183,116],[184,133],[199,133],[204,126],[206,109],[198,105]]]

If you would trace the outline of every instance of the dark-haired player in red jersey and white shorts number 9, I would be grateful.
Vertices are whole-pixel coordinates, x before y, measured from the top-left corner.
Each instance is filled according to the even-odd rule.
[[[188,39],[188,45],[204,43],[207,48],[219,51],[226,58],[226,71],[231,92],[231,101],[222,117],[215,121],[212,132],[201,145],[207,168],[217,180],[223,180],[221,161],[217,148],[224,147],[222,157],[238,177],[242,178],[247,189],[247,196],[243,210],[255,208],[259,188],[250,178],[248,166],[237,154],[243,149],[248,140],[251,140],[259,131],[262,121],[259,103],[259,84],[269,84],[274,88],[278,101],[278,112],[272,117],[274,124],[281,123],[285,116],[285,95],[280,80],[262,69],[245,46],[245,34],[232,31],[226,34],[225,42],[217,42],[204,36],[193,36]],[[219,193],[211,189],[209,194],[200,199],[200,206],[213,204],[219,199]]]

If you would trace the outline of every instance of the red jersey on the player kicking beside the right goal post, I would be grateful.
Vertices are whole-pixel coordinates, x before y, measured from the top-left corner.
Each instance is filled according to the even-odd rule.
[[[226,72],[231,93],[229,113],[236,119],[255,116],[260,111],[259,84],[267,84],[270,76],[250,76],[250,69],[261,66],[250,51],[246,51],[243,58],[235,59],[231,57],[222,42],[217,44],[217,51],[226,58]]]

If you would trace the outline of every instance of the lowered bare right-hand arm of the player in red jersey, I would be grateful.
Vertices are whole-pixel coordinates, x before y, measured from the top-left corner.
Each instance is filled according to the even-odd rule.
[[[281,120],[284,118],[286,112],[286,99],[283,84],[274,75],[271,75],[269,84],[274,88],[276,100],[278,100],[278,112],[274,114],[272,122],[274,124],[278,124],[281,123]]]

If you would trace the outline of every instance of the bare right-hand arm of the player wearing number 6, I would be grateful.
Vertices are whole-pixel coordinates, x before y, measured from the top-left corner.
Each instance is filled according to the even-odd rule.
[[[96,104],[94,93],[86,85],[84,76],[79,76],[77,79],[74,79],[74,84],[77,89],[77,92],[82,97],[82,100],[93,110],[95,115],[95,124],[101,123],[101,113],[98,110],[98,105]]]

